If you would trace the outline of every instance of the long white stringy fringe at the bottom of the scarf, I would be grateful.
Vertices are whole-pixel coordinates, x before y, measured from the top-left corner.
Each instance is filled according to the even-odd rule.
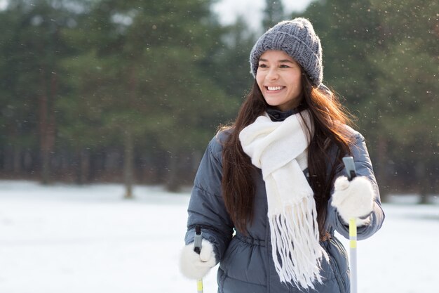
[[[273,261],[281,282],[304,289],[314,289],[316,280],[322,283],[320,261],[328,256],[319,243],[316,214],[313,198],[305,197],[269,217]]]

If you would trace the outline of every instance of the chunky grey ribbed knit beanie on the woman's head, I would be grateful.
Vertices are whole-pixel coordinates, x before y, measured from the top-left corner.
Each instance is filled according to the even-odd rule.
[[[323,81],[322,46],[309,20],[295,18],[267,30],[250,52],[250,67],[256,77],[259,58],[268,50],[281,50],[302,65],[313,86]]]

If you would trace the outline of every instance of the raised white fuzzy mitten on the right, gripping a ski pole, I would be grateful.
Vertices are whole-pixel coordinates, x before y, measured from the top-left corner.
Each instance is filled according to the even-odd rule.
[[[332,206],[337,208],[345,223],[356,218],[357,226],[363,226],[367,219],[359,219],[369,215],[374,205],[374,190],[372,183],[365,176],[358,176],[348,181],[346,176],[340,176],[334,183]]]

